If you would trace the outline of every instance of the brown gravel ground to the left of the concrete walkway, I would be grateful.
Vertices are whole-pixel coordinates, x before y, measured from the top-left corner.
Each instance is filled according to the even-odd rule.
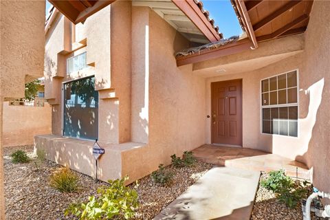
[[[91,177],[76,172],[80,177],[80,190],[58,192],[49,186],[49,179],[52,172],[60,166],[48,160],[39,170],[36,170],[33,161],[28,164],[13,164],[10,154],[17,150],[26,151],[31,157],[33,155],[33,146],[4,148],[5,202],[8,220],[72,219],[63,216],[63,211],[69,203],[87,201],[89,195],[96,195],[99,186],[106,185],[102,181],[96,184]],[[201,162],[197,162],[191,168],[167,166],[166,169],[175,174],[168,186],[153,183],[150,176],[140,179],[137,186],[131,184],[131,187],[136,188],[140,200],[136,219],[152,219],[210,168],[212,165]]]

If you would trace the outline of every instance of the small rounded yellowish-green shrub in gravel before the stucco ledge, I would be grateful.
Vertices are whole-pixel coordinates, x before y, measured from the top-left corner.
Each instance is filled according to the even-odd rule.
[[[75,192],[78,190],[79,177],[70,168],[63,167],[56,170],[50,177],[50,186],[60,192]]]

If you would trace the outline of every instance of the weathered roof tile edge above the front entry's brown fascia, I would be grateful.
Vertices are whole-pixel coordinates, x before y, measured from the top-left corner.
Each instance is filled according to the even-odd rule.
[[[228,45],[229,43],[234,43],[239,40],[239,36],[231,36],[229,39],[221,39],[220,41],[208,43],[206,45],[201,45],[199,47],[192,47],[186,50],[181,50],[175,54],[176,58],[189,56],[191,54],[199,54],[206,50],[214,50],[216,48],[223,47],[224,45]]]

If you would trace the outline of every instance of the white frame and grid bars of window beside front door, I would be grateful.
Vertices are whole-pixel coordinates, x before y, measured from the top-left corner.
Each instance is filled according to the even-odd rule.
[[[277,80],[277,89],[274,90],[274,91],[280,91],[280,90],[284,90],[284,89],[278,89],[278,76],[281,76],[283,74],[288,74],[290,72],[296,72],[297,73],[297,77],[296,77],[296,80],[297,80],[297,85],[296,87],[287,87],[287,77],[286,77],[286,90],[287,89],[292,89],[292,88],[297,88],[297,102],[295,103],[287,103],[287,104],[270,104],[270,96],[268,96],[268,102],[269,104],[268,105],[263,105],[263,94],[265,93],[270,93],[270,78],[273,78],[276,76],[276,80]],[[268,79],[268,91],[265,91],[263,92],[263,85],[262,85],[262,81],[263,80],[267,80]],[[260,133],[261,135],[274,135],[274,136],[281,136],[281,137],[291,137],[291,138],[298,138],[300,137],[300,126],[299,126],[299,69],[292,69],[290,71],[287,71],[287,72],[283,72],[281,74],[277,74],[277,75],[274,75],[274,76],[269,76],[267,78],[262,78],[260,80]],[[278,103],[278,95],[277,95],[277,103]],[[272,134],[272,133],[263,133],[263,109],[269,109],[269,108],[281,108],[281,107],[297,107],[297,120],[286,120],[287,122],[297,122],[297,137],[293,137],[293,136],[289,136],[289,123],[287,123],[287,132],[288,132],[288,135],[280,135],[280,134]],[[288,108],[288,111],[289,111],[289,108]],[[288,113],[288,117],[289,117],[289,113]],[[270,120],[271,121],[271,120]],[[279,124],[278,124],[278,129],[279,129]],[[278,130],[279,131],[279,130]]]

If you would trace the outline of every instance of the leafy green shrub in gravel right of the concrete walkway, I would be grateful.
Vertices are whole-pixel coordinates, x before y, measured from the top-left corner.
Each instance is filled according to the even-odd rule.
[[[308,194],[307,181],[294,181],[285,175],[284,170],[270,172],[269,177],[261,181],[261,186],[272,190],[278,201],[289,208],[296,208],[298,202]]]

